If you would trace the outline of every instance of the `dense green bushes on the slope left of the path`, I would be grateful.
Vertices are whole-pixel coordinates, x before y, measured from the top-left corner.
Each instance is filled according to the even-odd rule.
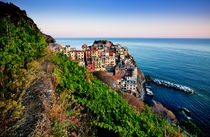
[[[1,18],[0,28],[0,89],[3,94],[17,90],[11,85],[20,69],[27,68],[27,63],[41,57],[47,44],[40,31],[24,20],[15,26],[9,17]]]

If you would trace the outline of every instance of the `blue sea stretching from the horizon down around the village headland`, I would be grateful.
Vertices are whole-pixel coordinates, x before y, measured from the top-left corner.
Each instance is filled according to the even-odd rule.
[[[56,42],[81,49],[95,40],[127,46],[139,68],[153,79],[189,87],[196,94],[148,83],[152,100],[175,114],[187,108],[192,121],[210,135],[210,39],[180,38],[56,38]]]

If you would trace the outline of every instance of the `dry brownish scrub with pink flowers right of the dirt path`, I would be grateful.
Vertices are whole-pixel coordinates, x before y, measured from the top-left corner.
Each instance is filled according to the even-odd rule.
[[[90,121],[95,118],[73,98],[70,90],[62,89],[51,109],[52,133],[55,136],[95,136]]]

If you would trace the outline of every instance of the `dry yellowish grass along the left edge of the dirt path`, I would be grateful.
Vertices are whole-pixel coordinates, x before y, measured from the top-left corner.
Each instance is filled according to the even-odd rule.
[[[22,115],[24,106],[22,97],[27,88],[41,75],[41,60],[34,60],[27,64],[27,69],[21,69],[20,73],[14,76],[12,86],[17,87],[13,92],[7,92],[7,97],[0,98],[0,135],[4,136],[8,127],[13,125]]]

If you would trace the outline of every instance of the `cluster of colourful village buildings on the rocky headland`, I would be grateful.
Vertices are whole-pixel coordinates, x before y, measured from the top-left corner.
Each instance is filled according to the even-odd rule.
[[[122,91],[134,96],[139,95],[137,66],[126,46],[100,40],[95,41],[91,46],[82,45],[82,50],[57,43],[50,43],[48,48],[52,51],[63,52],[73,61],[78,62],[80,66],[85,66],[89,72],[107,72]]]

